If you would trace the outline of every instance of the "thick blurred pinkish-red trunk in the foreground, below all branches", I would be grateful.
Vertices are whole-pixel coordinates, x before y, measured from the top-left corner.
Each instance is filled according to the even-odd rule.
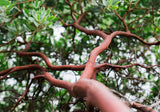
[[[87,102],[97,106],[102,112],[130,112],[110,90],[102,83],[91,79],[80,79],[72,85],[74,97],[87,98]]]

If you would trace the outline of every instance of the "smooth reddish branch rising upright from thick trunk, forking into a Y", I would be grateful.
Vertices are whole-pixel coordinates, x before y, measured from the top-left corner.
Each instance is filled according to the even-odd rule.
[[[143,44],[146,44],[146,45],[159,45],[160,44],[160,41],[158,41],[158,42],[145,42],[139,36],[130,33],[129,30],[128,30],[127,25],[124,22],[124,19],[122,17],[120,17],[116,11],[115,11],[116,15],[122,20],[122,22],[123,22],[123,24],[124,24],[127,32],[115,31],[115,32],[111,33],[110,35],[107,35],[103,31],[100,31],[100,30],[88,30],[88,29],[86,29],[86,28],[84,28],[84,27],[82,27],[82,26],[79,25],[80,21],[82,20],[82,18],[87,13],[88,12],[85,12],[85,13],[81,14],[81,16],[79,17],[79,19],[77,21],[75,21],[75,23],[73,23],[73,26],[75,28],[77,28],[78,30],[80,30],[80,31],[82,31],[82,32],[84,32],[84,33],[86,33],[88,35],[97,35],[97,36],[102,37],[104,39],[104,42],[100,46],[98,46],[97,48],[95,48],[90,53],[90,58],[89,58],[89,60],[88,60],[88,62],[86,64],[84,72],[81,75],[81,78],[91,78],[92,77],[92,75],[93,75],[93,73],[95,71],[94,65],[95,65],[96,57],[101,52],[103,52],[104,50],[106,50],[108,48],[108,46],[111,43],[112,38],[114,38],[116,35],[120,35],[120,36],[122,35],[122,36],[126,36],[126,37],[134,37],[134,38],[138,39],[140,42],[142,42]]]

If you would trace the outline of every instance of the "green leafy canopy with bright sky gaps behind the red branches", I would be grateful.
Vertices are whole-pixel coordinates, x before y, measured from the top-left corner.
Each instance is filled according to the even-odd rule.
[[[74,3],[75,0],[70,2]],[[0,71],[13,66],[36,64],[37,60],[47,68],[43,59],[37,56],[19,57],[15,52],[3,52],[23,50],[29,41],[31,46],[28,52],[42,52],[53,65],[85,64],[90,52],[103,42],[99,36],[86,35],[61,23],[59,18],[67,24],[74,22],[70,16],[70,7],[63,0],[1,0],[0,6]],[[144,41],[152,42],[160,40],[159,6],[158,0],[78,0],[72,10],[76,19],[82,13],[81,9],[90,11],[82,19],[81,26],[111,34],[125,30],[114,9],[121,17],[129,8],[133,9],[125,18],[130,32]],[[59,30],[56,31],[56,28]],[[160,65],[160,46],[147,46],[132,37],[117,35],[109,49],[97,57],[96,63],[103,62],[121,66],[131,63]],[[48,71],[53,73],[53,77],[68,81],[78,80],[82,73],[69,70]],[[0,111],[9,111],[22,96],[31,78],[39,73],[38,70],[17,71],[0,80]],[[65,79],[63,74],[71,75]],[[159,77],[159,66],[150,69],[133,66],[125,69],[109,67],[97,73],[96,79],[123,94],[129,101],[152,105],[160,99]],[[39,78],[32,83],[16,111],[85,110],[84,102],[84,99],[72,98],[66,90]],[[158,106],[154,108],[158,110]]]

